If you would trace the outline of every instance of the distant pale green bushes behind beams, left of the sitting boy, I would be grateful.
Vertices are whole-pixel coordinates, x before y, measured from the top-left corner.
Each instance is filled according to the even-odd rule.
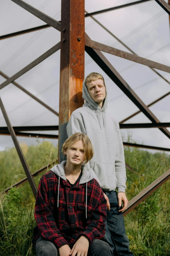
[[[51,162],[58,160],[58,147],[54,147],[50,142],[44,141],[37,145],[27,146],[21,143],[21,149],[30,168],[31,173],[34,173],[39,168],[47,166]],[[34,181],[36,186],[39,184],[40,177],[49,171],[49,169],[35,176]],[[0,191],[5,190],[12,184],[26,177],[21,161],[18,157],[16,149],[8,148],[0,152]],[[34,200],[30,185],[28,182],[21,185],[22,202],[27,204],[29,200]]]

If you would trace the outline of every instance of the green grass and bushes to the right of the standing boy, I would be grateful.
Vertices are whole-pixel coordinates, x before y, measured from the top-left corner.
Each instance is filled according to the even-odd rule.
[[[129,142],[132,141],[129,136]],[[124,147],[128,200],[132,199],[170,168],[170,155]],[[130,248],[135,256],[170,255],[170,180],[124,217]]]

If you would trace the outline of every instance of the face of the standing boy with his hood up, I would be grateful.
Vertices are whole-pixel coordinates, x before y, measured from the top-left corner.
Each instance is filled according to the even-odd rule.
[[[87,90],[91,98],[100,106],[106,98],[106,88],[102,79],[97,79],[86,84]]]

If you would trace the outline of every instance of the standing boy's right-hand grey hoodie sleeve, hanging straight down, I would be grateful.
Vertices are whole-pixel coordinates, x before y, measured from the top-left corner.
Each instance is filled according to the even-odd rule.
[[[119,126],[119,124],[118,124]],[[120,128],[118,127],[118,140],[117,140],[117,150],[115,159],[115,172],[117,179],[117,190],[118,192],[124,192],[126,190],[126,168],[124,160],[124,148],[121,138]]]

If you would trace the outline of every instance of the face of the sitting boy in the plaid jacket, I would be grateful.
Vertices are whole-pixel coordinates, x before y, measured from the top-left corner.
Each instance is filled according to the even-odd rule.
[[[75,142],[72,146],[64,150],[67,156],[67,162],[74,165],[81,165],[85,161],[84,146],[81,140]]]

